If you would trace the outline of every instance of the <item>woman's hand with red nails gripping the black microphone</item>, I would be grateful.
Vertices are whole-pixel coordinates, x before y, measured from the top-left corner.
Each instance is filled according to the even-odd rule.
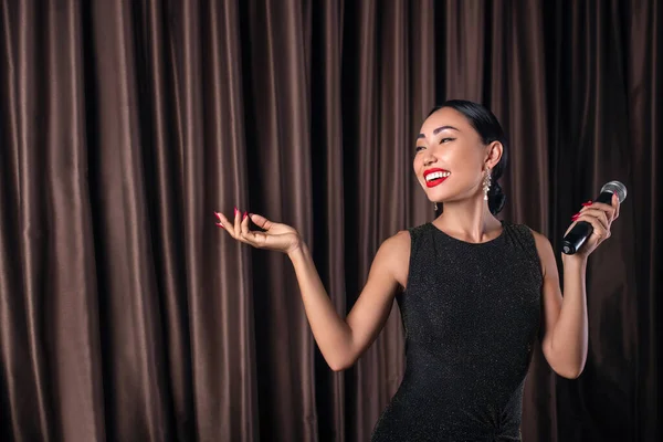
[[[582,210],[571,217],[573,223],[566,232],[569,233],[573,225],[580,221],[587,221],[593,228],[591,235],[576,253],[576,256],[578,257],[589,256],[589,254],[593,252],[600,243],[610,238],[610,227],[619,217],[619,198],[617,198],[617,194],[613,194],[612,204],[588,201],[583,202],[582,206]]]

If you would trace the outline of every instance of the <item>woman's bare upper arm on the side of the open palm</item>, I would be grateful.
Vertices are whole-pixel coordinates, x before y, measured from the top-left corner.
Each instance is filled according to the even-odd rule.
[[[386,240],[371,264],[368,280],[346,317],[357,359],[385,326],[396,294],[406,285],[410,260],[410,233],[401,231]]]

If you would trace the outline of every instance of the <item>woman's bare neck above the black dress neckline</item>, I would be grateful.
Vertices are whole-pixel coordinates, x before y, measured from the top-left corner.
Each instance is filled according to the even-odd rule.
[[[499,234],[502,224],[488,209],[483,194],[462,201],[444,202],[443,212],[434,224],[445,232],[469,242],[485,242]]]

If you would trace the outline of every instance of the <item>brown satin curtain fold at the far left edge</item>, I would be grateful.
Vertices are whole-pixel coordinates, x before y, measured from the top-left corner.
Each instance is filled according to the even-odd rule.
[[[40,189],[49,180],[39,162],[44,154],[43,133],[32,124],[44,124],[40,94],[50,87],[35,67],[46,69],[40,33],[45,17],[35,13],[32,2],[2,6],[2,367],[8,428],[27,428],[25,436],[49,434],[53,429],[52,390],[46,370],[43,283],[48,271],[46,198]],[[9,87],[11,85],[11,87]],[[6,166],[7,165],[7,166]],[[12,170],[12,173],[8,173]],[[32,173],[35,173],[33,176]],[[7,233],[11,232],[9,235]],[[9,297],[9,293],[21,296]],[[25,401],[28,397],[30,401]],[[30,424],[30,427],[28,425]],[[6,425],[3,424],[2,428]],[[2,430],[8,432],[11,430]]]

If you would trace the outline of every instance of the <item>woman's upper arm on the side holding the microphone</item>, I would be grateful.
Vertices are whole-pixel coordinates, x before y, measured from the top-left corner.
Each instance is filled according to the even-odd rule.
[[[559,272],[557,270],[557,261],[555,260],[555,253],[552,252],[550,241],[540,233],[533,231],[533,234],[541,262],[541,273],[544,277],[541,288],[544,308],[541,349],[546,360],[550,364],[552,329],[555,329],[555,324],[557,324],[557,319],[559,318],[562,301],[561,288],[559,286]],[[555,367],[552,367],[552,369],[555,369]]]

